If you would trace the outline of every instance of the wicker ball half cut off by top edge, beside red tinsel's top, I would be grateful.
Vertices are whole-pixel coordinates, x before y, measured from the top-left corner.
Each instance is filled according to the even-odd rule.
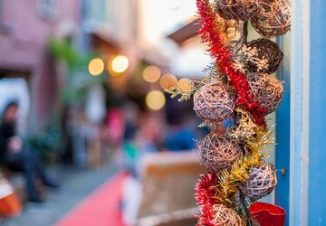
[[[261,0],[216,0],[216,12],[226,20],[247,21],[261,8]]]

